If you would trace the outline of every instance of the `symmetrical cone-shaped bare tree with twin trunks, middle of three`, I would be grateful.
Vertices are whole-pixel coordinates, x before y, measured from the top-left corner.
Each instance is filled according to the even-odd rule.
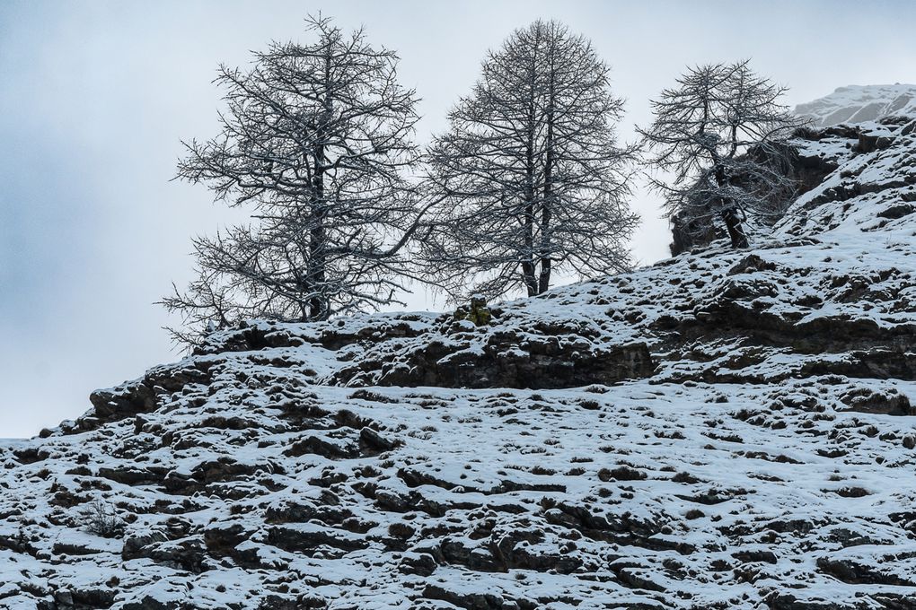
[[[488,53],[429,152],[429,185],[445,201],[423,254],[453,298],[540,294],[555,271],[628,268],[633,151],[616,144],[622,101],[608,72],[586,38],[556,21]]]

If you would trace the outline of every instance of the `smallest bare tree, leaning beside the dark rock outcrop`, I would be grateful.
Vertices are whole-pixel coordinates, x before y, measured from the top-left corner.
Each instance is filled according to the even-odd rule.
[[[747,247],[747,216],[771,224],[791,201],[788,140],[805,122],[780,104],[786,89],[747,60],[688,69],[677,85],[652,102],[654,123],[638,129],[661,174],[651,184],[680,239],[720,217],[732,245]]]

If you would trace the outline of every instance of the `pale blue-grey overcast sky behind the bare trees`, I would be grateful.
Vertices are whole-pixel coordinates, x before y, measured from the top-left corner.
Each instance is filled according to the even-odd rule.
[[[169,181],[180,140],[215,134],[220,62],[301,38],[317,11],[398,51],[424,138],[485,50],[538,17],[594,40],[627,99],[627,138],[686,64],[752,58],[791,87],[790,104],[916,82],[911,0],[0,0],[0,437],[75,418],[93,389],[179,357],[152,303],[189,279],[191,235],[229,218],[204,187]],[[669,241],[658,202],[640,195],[634,207],[634,251],[657,261]],[[409,303],[442,306],[422,293]]]

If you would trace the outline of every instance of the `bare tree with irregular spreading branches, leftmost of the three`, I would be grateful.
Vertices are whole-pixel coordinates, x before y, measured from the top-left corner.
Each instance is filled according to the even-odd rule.
[[[248,317],[388,305],[411,276],[402,251],[420,215],[415,92],[398,84],[396,54],[363,30],[307,23],[313,42],[273,43],[250,70],[222,66],[222,131],[185,144],[178,177],[252,222],[194,241],[196,279],[161,302],[191,327],[173,331],[179,339]]]

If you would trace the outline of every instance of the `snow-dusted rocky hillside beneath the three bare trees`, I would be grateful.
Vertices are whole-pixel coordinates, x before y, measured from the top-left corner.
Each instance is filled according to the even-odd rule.
[[[252,323],[3,442],[0,605],[916,608],[916,116],[800,145],[749,251]]]

